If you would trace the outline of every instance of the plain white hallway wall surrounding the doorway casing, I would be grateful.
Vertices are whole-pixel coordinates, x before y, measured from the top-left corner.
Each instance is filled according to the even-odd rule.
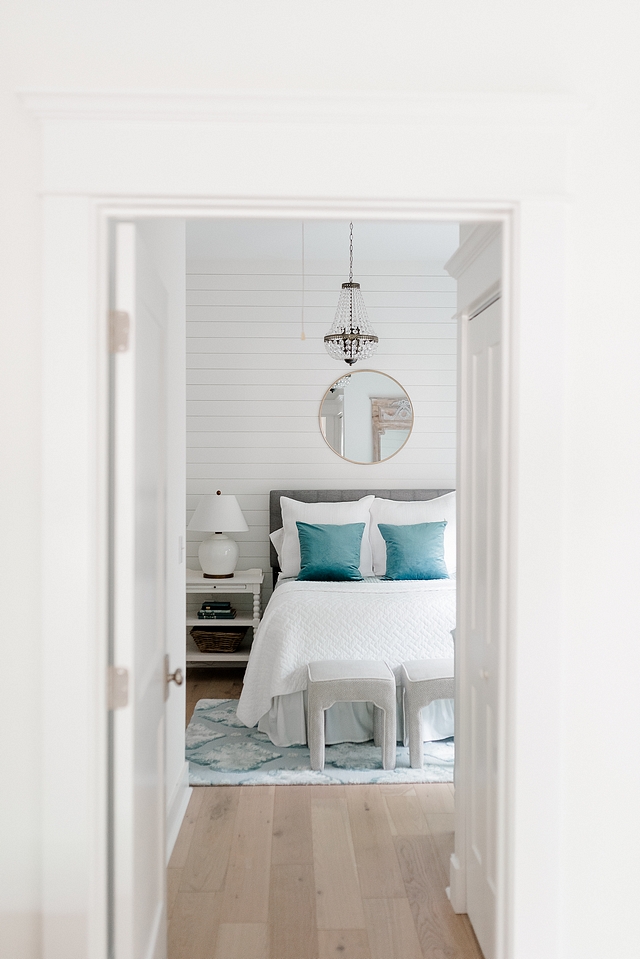
[[[590,105],[573,135],[567,168],[569,305],[558,331],[566,339],[566,361],[549,372],[566,386],[566,440],[561,455],[545,461],[541,454],[527,466],[536,475],[553,474],[565,515],[566,629],[555,664],[565,711],[559,734],[563,801],[549,823],[558,835],[562,884],[556,955],[635,959],[640,874],[632,851],[640,845],[640,780],[630,757],[640,726],[640,8],[628,0],[460,0],[449,6],[424,0],[195,0],[188,8],[177,0],[23,0],[5,5],[3,17],[0,510],[8,546],[0,637],[10,682],[0,698],[0,953],[10,959],[42,955],[41,157],[37,123],[16,91],[278,88],[551,92],[575,94]],[[347,36],[357,39],[348,56]],[[338,182],[344,140],[327,142],[324,127],[318,129],[322,162],[333,164]],[[419,143],[427,155],[428,131]],[[466,146],[460,163],[473,164],[472,144]],[[532,146],[536,163],[544,148],[542,140]],[[370,149],[386,149],[379,135]],[[309,169],[316,157],[308,154],[305,161]],[[215,156],[194,156],[193,162],[211,165]],[[509,163],[496,156],[496,169],[503,187],[494,195],[508,198]],[[241,162],[238,175],[242,182]],[[440,183],[420,180],[409,154],[394,164],[393,178],[390,196],[445,192]],[[349,185],[353,195],[378,189],[366,164],[357,182],[359,190],[355,181]],[[288,192],[306,189],[307,180],[301,183],[292,179]],[[546,384],[535,386],[544,401]],[[594,709],[604,701],[606,725]],[[526,902],[526,890],[522,894]]]

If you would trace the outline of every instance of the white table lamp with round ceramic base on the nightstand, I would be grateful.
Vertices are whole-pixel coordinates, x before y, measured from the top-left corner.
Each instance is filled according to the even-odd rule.
[[[198,559],[206,579],[230,579],[238,562],[238,544],[225,533],[246,533],[249,527],[235,496],[221,491],[203,496],[187,529],[212,532],[200,543]]]

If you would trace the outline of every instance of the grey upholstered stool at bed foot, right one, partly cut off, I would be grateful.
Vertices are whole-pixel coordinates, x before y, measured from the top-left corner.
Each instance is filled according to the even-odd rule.
[[[404,728],[409,731],[409,761],[412,769],[421,769],[424,746],[420,714],[434,699],[453,699],[453,659],[414,659],[403,663],[402,686]]]

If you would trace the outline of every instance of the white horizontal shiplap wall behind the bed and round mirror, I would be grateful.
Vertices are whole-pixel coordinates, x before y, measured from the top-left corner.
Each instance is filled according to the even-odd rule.
[[[318,426],[325,390],[348,372],[322,341],[347,279],[344,260],[306,263],[304,341],[299,261],[187,261],[187,517],[201,494],[234,493],[250,527],[233,534],[239,569],[269,570],[270,489],[455,485],[455,281],[441,263],[358,266],[380,346],[356,369],[399,380],[416,416],[404,449],[371,466],[342,460]],[[204,535],[188,533],[192,568]]]

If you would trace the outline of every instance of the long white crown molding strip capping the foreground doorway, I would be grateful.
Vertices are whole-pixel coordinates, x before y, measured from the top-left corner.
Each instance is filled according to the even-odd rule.
[[[18,95],[29,113],[44,120],[567,127],[587,109],[585,101],[564,94],[527,93],[21,90]]]

